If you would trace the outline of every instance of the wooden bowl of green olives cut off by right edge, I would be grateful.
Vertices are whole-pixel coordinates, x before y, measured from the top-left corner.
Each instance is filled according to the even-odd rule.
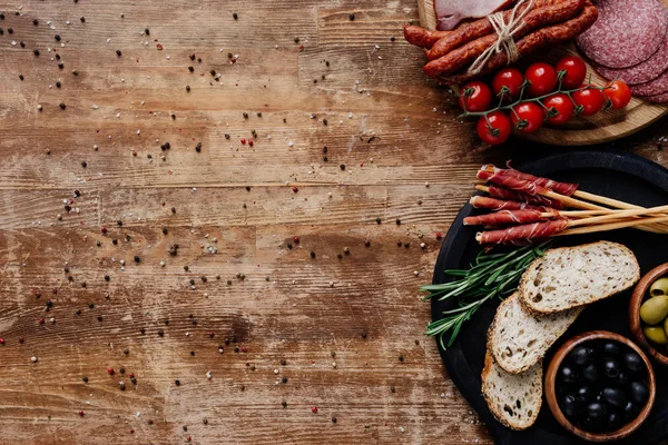
[[[629,325],[642,349],[668,365],[668,263],[638,281],[629,301]]]

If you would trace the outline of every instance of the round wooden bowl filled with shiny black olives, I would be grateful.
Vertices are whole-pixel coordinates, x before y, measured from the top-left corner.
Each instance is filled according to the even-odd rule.
[[[561,426],[587,441],[611,442],[627,437],[647,419],[656,382],[640,347],[619,334],[591,330],[557,350],[544,390]]]

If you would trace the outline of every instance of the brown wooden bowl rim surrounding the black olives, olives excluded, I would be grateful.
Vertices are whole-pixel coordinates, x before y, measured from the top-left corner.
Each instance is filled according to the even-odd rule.
[[[613,432],[609,432],[609,433],[589,433],[589,432],[587,432],[584,429],[580,429],[579,427],[573,425],[563,415],[563,413],[561,412],[561,408],[559,407],[559,403],[557,403],[557,390],[554,388],[554,382],[557,379],[557,372],[559,370],[561,363],[563,362],[566,356],[576,346],[581,345],[587,342],[591,342],[591,340],[606,340],[606,339],[622,343],[622,344],[627,345],[628,347],[630,347],[631,349],[633,349],[636,353],[638,353],[638,355],[640,355],[640,357],[642,358],[642,362],[645,363],[645,367],[647,368],[647,379],[645,383],[647,384],[647,387],[649,389],[649,398],[647,399],[647,404],[645,405],[645,407],[640,411],[640,414],[638,414],[638,416],[632,422],[623,425],[621,428],[613,431]],[[654,369],[651,368],[651,363],[649,362],[649,358],[647,357],[647,355],[645,355],[642,349],[640,349],[640,347],[638,347],[633,342],[629,340],[626,337],[622,337],[619,334],[610,333],[608,330],[590,330],[588,333],[583,333],[583,334],[574,336],[573,338],[566,342],[559,348],[559,350],[557,350],[557,353],[552,357],[552,360],[550,362],[550,365],[548,366],[548,370],[546,373],[544,392],[546,392],[546,398],[548,400],[548,406],[550,407],[552,415],[554,416],[554,418],[557,418],[557,422],[559,422],[561,424],[561,426],[563,426],[570,433],[572,433],[576,436],[581,437],[586,441],[612,442],[612,441],[619,441],[623,437],[627,437],[628,435],[633,433],[636,429],[638,429],[638,427],[640,427],[640,425],[642,425],[642,423],[647,419],[647,416],[649,416],[649,412],[651,411],[651,407],[654,406],[654,402],[655,402],[655,397],[656,397],[656,393],[657,393],[657,384],[656,384]]]

